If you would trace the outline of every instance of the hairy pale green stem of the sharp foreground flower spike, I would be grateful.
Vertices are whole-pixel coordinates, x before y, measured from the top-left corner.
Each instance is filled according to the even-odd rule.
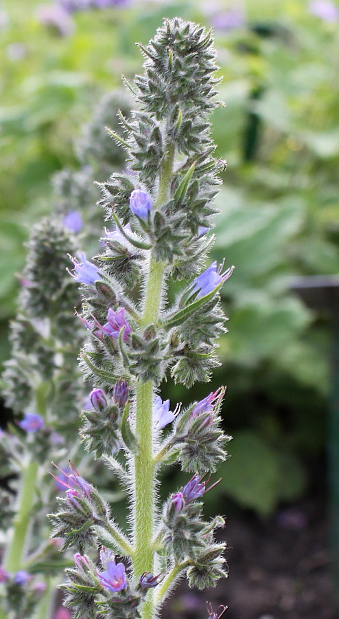
[[[169,146],[159,182],[159,192],[156,206],[166,201],[169,186],[172,180],[174,162],[174,147]],[[152,325],[159,320],[165,264],[156,261],[151,256],[148,270],[148,281],[143,303],[143,315],[139,322],[141,329]],[[139,579],[143,572],[154,571],[154,549],[152,537],[154,534],[154,497],[155,497],[155,468],[153,459],[153,381],[137,383],[136,387],[136,421],[135,431],[138,437],[139,451],[135,455],[135,519],[134,519],[134,547],[133,572],[135,579]],[[154,602],[153,591],[148,592],[142,609],[143,619],[153,619]]]

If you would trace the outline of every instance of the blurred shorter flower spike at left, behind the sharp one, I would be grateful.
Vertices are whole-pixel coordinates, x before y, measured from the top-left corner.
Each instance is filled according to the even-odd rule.
[[[75,237],[55,217],[33,227],[11,325],[12,356],[2,382],[14,424],[0,433],[0,477],[11,480],[0,490],[1,619],[26,619],[36,605],[46,613],[49,577],[62,564],[45,514],[56,497],[51,459],[60,461],[70,449],[77,457],[84,398],[76,367],[83,334],[73,309],[80,297],[66,271],[67,251],[76,249]]]

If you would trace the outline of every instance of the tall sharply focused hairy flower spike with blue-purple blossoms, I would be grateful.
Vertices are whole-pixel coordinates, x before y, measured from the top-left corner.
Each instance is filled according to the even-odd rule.
[[[224,389],[183,410],[159,395],[167,372],[187,387],[208,381],[224,331],[219,292],[233,267],[200,272],[223,166],[209,133],[215,50],[211,32],[181,19],[165,20],[141,50],[145,74],[130,86],[139,110],[121,116],[124,138],[111,132],[132,173],[102,184],[110,221],[102,253],[73,260],[89,334],[81,363],[95,381],[81,434],[126,488],[130,531],[119,530],[106,501],[72,468],[51,521],[75,550],[62,585],[75,619],[153,619],[178,578],[204,589],[226,576],[224,544],[215,540],[224,520],[204,520],[201,501],[214,485],[206,476],[226,457]],[[172,304],[171,279],[189,282]],[[189,477],[161,506],[159,475],[175,461]]]

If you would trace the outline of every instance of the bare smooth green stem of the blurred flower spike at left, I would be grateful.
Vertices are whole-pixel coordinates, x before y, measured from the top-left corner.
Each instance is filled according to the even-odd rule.
[[[14,520],[12,540],[5,554],[4,566],[8,572],[18,572],[21,569],[23,554],[27,545],[27,532],[30,528],[32,506],[35,498],[38,463],[30,461],[23,470],[19,506]]]

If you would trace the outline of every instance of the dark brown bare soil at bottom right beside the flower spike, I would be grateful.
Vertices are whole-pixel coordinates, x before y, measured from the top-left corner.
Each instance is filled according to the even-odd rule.
[[[229,607],[223,619],[339,619],[324,503],[309,499],[265,522],[230,517],[224,530],[229,578],[202,594],[182,583],[164,619],[207,619],[207,600],[215,611]]]

